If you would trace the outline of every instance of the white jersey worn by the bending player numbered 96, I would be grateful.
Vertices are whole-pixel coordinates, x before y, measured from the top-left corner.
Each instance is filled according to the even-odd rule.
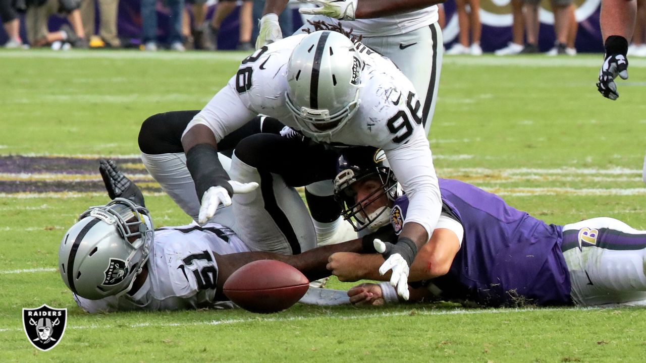
[[[256,114],[300,130],[286,105],[287,62],[306,36],[286,37],[244,59],[237,74],[196,114],[184,133],[195,125],[205,125],[220,142]],[[410,199],[405,222],[421,224],[430,236],[442,202],[415,88],[390,59],[361,43],[356,48],[365,63],[358,110],[340,130],[316,141],[383,149]]]

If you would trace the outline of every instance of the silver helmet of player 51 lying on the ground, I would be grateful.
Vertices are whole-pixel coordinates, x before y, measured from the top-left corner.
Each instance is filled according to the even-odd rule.
[[[61,277],[73,293],[90,300],[123,295],[147,262],[153,238],[148,210],[130,200],[90,207],[63,236]]]

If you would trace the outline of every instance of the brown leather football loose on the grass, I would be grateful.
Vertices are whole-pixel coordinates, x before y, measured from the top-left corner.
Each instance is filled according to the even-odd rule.
[[[284,262],[258,260],[237,269],[224,283],[224,293],[235,304],[253,313],[276,313],[305,295],[309,281]]]

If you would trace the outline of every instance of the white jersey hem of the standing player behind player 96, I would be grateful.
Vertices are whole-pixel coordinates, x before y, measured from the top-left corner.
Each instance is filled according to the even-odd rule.
[[[328,16],[313,16],[310,20],[324,21],[328,24],[337,24],[340,22],[344,28],[353,29],[353,36],[382,37],[412,32],[413,30],[436,23],[438,19],[437,5],[433,5],[412,12],[375,17],[372,19],[345,21]]]

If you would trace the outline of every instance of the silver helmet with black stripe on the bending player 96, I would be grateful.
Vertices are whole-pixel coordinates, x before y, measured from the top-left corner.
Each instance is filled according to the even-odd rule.
[[[303,134],[319,141],[357,112],[364,63],[348,37],[321,30],[304,37],[287,63],[286,103]]]

